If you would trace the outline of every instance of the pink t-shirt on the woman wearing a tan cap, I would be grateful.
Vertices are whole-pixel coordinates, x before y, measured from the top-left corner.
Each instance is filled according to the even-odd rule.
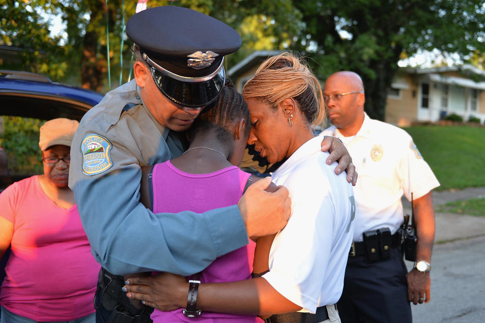
[[[100,265],[91,255],[76,205],[58,207],[32,176],[0,194],[0,210],[14,223],[0,304],[35,321],[69,321],[93,313]]]

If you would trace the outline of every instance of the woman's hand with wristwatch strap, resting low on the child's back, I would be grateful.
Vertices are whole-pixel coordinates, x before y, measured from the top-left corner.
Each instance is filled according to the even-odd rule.
[[[133,277],[125,285],[126,296],[161,311],[185,307],[188,283],[184,276],[161,272],[155,276]]]

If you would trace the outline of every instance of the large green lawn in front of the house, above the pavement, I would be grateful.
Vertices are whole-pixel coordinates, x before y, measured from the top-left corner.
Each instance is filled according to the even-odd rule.
[[[485,127],[404,128],[441,183],[437,190],[485,186]]]

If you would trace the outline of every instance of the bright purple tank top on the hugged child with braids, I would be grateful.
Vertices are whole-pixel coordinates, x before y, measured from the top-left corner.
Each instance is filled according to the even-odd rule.
[[[154,213],[193,211],[202,213],[216,208],[237,204],[243,195],[250,174],[236,166],[208,174],[185,173],[170,161],[155,165],[152,176]],[[183,228],[180,228],[183,230]],[[187,234],[190,234],[187,232]],[[218,257],[204,269],[199,280],[202,283],[235,282],[251,279],[254,249],[250,243]],[[187,255],[190,256],[190,255]],[[193,276],[192,276],[193,278]],[[154,323],[161,322],[263,322],[258,316],[232,315],[203,311],[197,319],[185,317],[182,309],[171,312],[155,310]]]

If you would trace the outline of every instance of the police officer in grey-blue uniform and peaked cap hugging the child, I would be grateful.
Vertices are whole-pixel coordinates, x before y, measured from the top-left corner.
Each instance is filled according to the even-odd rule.
[[[115,275],[199,272],[248,244],[248,237],[277,232],[290,214],[285,188],[275,193],[250,188],[238,205],[203,214],[154,214],[139,203],[140,167],[183,153],[180,131],[218,99],[224,56],[240,47],[241,38],[212,17],[175,6],[135,14],[126,32],[135,43],[134,79],[110,91],[82,118],[69,176],[92,254],[103,266],[100,292],[120,292],[125,300],[122,278],[121,286],[114,286],[120,280]],[[333,140],[332,148],[333,159],[342,157],[345,169],[351,159],[344,146]],[[349,178],[357,176],[353,167],[349,170]]]

